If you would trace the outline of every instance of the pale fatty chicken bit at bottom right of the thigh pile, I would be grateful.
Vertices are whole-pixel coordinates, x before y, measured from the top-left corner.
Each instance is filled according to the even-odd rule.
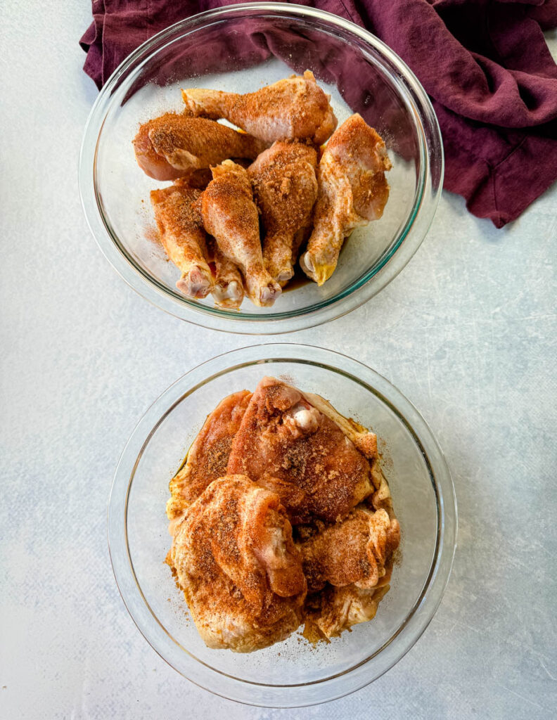
[[[352,625],[373,620],[388,590],[388,585],[373,590],[362,590],[356,585],[344,588],[329,585],[321,593],[308,596],[303,636],[313,643],[329,640]]]

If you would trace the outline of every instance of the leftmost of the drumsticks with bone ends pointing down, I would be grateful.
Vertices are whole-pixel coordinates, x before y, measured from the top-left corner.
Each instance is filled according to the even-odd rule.
[[[185,184],[151,191],[161,242],[182,272],[176,287],[188,297],[206,297],[213,289],[213,276],[205,259],[205,230],[195,206],[200,194]]]

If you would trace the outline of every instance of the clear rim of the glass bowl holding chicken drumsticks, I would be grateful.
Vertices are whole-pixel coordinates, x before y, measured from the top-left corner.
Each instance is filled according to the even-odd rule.
[[[398,228],[391,246],[372,269],[355,279],[329,300],[313,302],[302,310],[256,313],[231,312],[202,305],[183,297],[143,269],[130,256],[104,215],[95,181],[97,151],[107,114],[112,109],[112,94],[122,76],[141,69],[144,63],[170,42],[216,20],[236,17],[287,17],[313,19],[332,24],[351,34],[354,40],[378,53],[375,62],[398,88],[401,98],[414,117],[419,145],[419,178],[414,203],[404,226]],[[183,31],[183,32],[182,32]],[[439,202],[444,174],[444,158],[435,111],[422,85],[406,63],[388,45],[357,24],[315,8],[287,3],[244,3],[208,10],[186,18],[143,42],[122,61],[99,93],[86,122],[79,154],[79,193],[86,221],[104,256],[125,282],[151,304],[177,318],[202,327],[244,334],[282,334],[311,328],[339,318],[360,307],[404,269],[422,243]]]

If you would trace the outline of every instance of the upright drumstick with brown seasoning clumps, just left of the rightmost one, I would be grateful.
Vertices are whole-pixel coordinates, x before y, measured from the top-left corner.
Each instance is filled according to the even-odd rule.
[[[280,285],[294,274],[295,237],[308,225],[317,198],[316,165],[309,145],[278,140],[248,168],[265,231],[264,264]]]

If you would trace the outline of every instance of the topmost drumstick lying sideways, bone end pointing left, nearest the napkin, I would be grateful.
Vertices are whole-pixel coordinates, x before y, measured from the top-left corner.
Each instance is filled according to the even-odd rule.
[[[225,118],[267,143],[311,140],[321,145],[337,127],[329,96],[308,70],[245,95],[192,88],[182,90],[182,99],[195,117]]]

